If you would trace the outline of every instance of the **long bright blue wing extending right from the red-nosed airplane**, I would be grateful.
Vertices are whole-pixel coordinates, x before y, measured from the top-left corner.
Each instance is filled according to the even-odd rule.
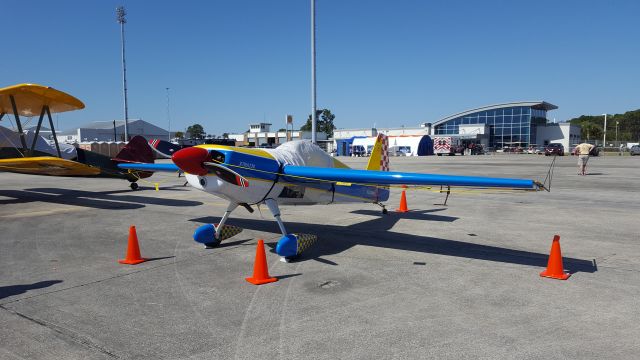
[[[285,166],[282,172],[284,175],[283,179],[293,183],[327,181],[363,185],[444,185],[523,190],[539,190],[542,188],[542,184],[533,180],[482,176],[420,174],[398,171],[372,171],[292,165]]]

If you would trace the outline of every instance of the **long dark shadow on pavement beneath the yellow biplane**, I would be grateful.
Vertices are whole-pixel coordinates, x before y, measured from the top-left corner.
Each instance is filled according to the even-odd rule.
[[[162,191],[165,190],[179,191],[180,189],[162,189]],[[41,201],[106,210],[139,209],[146,205],[176,207],[202,205],[200,201],[165,199],[134,194],[135,192],[132,190],[83,191],[60,188],[0,190],[0,196],[12,198],[0,200],[0,205]]]

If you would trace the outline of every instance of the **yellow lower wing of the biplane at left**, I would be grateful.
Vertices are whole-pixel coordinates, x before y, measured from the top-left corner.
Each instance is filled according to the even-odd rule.
[[[53,156],[1,159],[0,171],[31,175],[96,176],[100,168]]]

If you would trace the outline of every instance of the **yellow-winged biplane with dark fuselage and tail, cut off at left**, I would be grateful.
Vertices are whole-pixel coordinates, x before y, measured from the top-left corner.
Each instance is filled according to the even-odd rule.
[[[137,189],[136,181],[149,177],[152,173],[122,170],[117,165],[126,162],[154,162],[154,153],[143,137],[132,138],[115,158],[69,145],[65,146],[65,151],[61,151],[51,114],[83,108],[82,101],[48,86],[19,84],[0,88],[0,122],[5,115],[12,114],[18,130],[15,133],[0,126],[0,130],[3,130],[0,131],[0,171],[121,178],[131,182],[132,189]],[[26,134],[20,117],[38,115],[35,134]],[[45,115],[49,120],[53,144],[40,136]]]

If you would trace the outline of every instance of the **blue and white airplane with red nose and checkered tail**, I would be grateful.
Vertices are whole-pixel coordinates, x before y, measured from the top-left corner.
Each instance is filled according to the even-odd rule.
[[[276,252],[284,261],[299,256],[317,237],[288,233],[279,205],[313,205],[346,202],[378,204],[389,199],[391,185],[503,188],[536,191],[544,185],[526,179],[455,176],[389,171],[387,138],[378,135],[366,170],[351,169],[310,141],[291,141],[276,149],[252,149],[223,145],[199,145],[179,150],[173,164],[119,164],[122,169],[184,172],[189,184],[229,202],[219,224],[199,227],[193,237],[215,247],[241,228],[226,225],[238,206],[253,212],[266,204],[282,238]]]

